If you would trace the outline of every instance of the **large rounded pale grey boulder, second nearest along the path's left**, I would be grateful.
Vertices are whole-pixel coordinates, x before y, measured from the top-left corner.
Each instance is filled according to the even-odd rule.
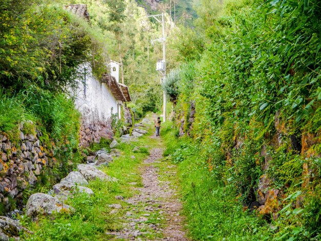
[[[72,207],[63,204],[57,198],[45,193],[32,194],[26,205],[26,215],[37,217],[38,215],[52,215],[55,212],[69,212]]]

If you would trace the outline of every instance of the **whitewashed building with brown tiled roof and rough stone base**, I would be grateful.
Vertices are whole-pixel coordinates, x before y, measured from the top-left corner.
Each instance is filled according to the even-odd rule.
[[[65,6],[78,16],[88,17],[87,5]],[[111,118],[121,118],[122,106],[131,101],[128,87],[119,82],[119,64],[111,61],[110,73],[97,78],[92,73],[90,64],[79,68],[78,86],[72,95],[75,107],[82,114],[80,145],[98,143],[103,138],[112,138]]]

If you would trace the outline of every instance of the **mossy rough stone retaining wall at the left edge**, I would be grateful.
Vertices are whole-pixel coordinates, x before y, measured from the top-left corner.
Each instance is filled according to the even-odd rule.
[[[12,199],[22,202],[23,191],[36,184],[46,167],[53,167],[53,151],[39,140],[42,133],[25,134],[19,129],[14,142],[0,132],[0,199],[5,210],[10,210]]]

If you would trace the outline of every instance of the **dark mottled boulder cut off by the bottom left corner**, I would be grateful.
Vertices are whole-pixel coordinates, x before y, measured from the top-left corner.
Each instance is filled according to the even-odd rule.
[[[0,216],[0,240],[19,239],[19,235],[22,232],[30,233],[28,229],[24,228],[17,221],[9,217]]]

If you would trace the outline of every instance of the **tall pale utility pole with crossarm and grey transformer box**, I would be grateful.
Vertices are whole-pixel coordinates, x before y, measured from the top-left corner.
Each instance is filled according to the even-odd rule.
[[[158,17],[162,17],[162,20],[160,20]],[[152,40],[152,44],[154,41],[158,41],[158,42],[163,42],[163,60],[162,60],[162,68],[157,68],[156,70],[158,70],[160,72],[160,74],[162,75],[162,77],[160,78],[160,83],[162,83],[163,81],[165,81],[166,78],[166,49],[165,49],[165,21],[164,21],[164,13],[162,14],[157,14],[157,15],[150,15],[148,17],[153,17],[156,19],[156,21],[158,23],[162,23],[162,32],[163,32],[163,37],[162,38],[158,38],[158,39],[154,39]],[[158,63],[157,63],[158,65]],[[163,90],[163,122],[166,122],[166,92],[165,90]]]

